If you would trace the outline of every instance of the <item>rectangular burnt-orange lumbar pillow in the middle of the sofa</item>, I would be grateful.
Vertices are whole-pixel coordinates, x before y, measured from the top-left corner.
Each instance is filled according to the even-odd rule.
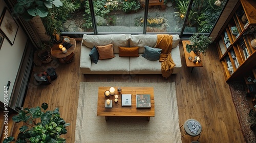
[[[119,46],[119,57],[139,57],[139,47]]]

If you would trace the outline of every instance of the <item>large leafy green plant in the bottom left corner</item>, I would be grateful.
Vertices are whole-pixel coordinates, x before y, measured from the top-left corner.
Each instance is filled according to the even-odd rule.
[[[41,110],[44,109],[43,111]],[[61,134],[66,134],[66,123],[60,117],[59,109],[46,111],[47,103],[42,103],[40,107],[25,108],[20,110],[18,115],[12,117],[16,123],[24,122],[26,125],[19,128],[16,142],[65,142],[65,138],[61,138]],[[37,121],[40,121],[36,123]],[[7,137],[3,143],[8,143],[14,140],[14,137]]]

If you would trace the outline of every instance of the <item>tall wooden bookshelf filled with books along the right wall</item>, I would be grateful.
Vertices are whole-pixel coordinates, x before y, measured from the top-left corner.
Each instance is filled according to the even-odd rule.
[[[226,82],[241,78],[256,67],[256,49],[250,44],[256,38],[255,11],[255,1],[240,0],[221,36],[217,37],[217,51],[226,73]]]

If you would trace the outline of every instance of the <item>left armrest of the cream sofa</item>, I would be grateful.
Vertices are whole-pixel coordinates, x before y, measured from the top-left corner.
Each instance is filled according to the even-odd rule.
[[[91,71],[91,57],[89,56],[92,49],[85,45],[81,45],[80,69],[82,74],[87,74]]]

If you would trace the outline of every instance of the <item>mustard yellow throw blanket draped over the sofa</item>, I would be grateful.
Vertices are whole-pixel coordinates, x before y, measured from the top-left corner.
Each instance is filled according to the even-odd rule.
[[[162,49],[159,62],[161,62],[162,76],[168,78],[176,67],[172,55],[173,35],[169,34],[157,34],[156,47]]]

